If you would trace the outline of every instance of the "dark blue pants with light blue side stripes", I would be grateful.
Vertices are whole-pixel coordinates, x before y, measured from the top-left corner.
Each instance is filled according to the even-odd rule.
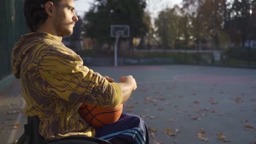
[[[123,113],[117,122],[96,128],[95,137],[106,141],[118,137],[129,143],[149,143],[148,128],[143,119],[126,113]]]

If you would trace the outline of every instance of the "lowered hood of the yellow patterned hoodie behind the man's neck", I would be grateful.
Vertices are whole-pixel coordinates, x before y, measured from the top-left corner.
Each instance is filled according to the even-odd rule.
[[[14,46],[13,52],[11,53],[11,67],[13,74],[17,79],[20,79],[20,68],[24,58],[27,57],[31,50],[35,49],[39,44],[61,44],[58,37],[44,32],[34,32],[22,35],[21,39]]]

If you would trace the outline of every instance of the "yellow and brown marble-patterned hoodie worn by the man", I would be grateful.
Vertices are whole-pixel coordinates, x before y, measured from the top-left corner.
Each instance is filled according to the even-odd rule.
[[[24,112],[40,119],[45,139],[69,135],[95,136],[95,129],[80,118],[82,102],[113,108],[121,104],[118,83],[83,66],[83,60],[54,35],[23,35],[11,54],[13,74],[21,79]]]

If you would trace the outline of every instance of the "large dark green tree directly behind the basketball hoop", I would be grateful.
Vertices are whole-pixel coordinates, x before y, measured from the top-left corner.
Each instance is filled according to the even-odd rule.
[[[97,44],[112,45],[110,25],[129,25],[130,44],[133,37],[143,37],[148,25],[143,21],[146,2],[144,0],[95,0],[84,16],[85,36],[97,40]]]

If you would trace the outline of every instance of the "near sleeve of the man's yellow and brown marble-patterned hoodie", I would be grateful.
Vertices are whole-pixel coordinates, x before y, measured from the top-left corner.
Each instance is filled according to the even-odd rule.
[[[75,103],[85,102],[108,108],[121,104],[118,83],[110,83],[83,66],[83,60],[72,50],[60,46],[51,47],[44,53],[46,55],[39,62],[39,73],[50,95]]]

